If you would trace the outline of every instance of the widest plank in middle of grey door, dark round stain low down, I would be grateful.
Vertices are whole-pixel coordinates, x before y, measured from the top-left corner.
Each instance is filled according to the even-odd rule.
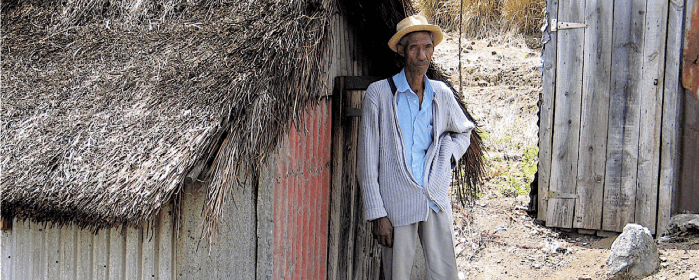
[[[614,1],[612,81],[602,229],[621,231],[635,214],[638,90],[643,61],[646,2]]]

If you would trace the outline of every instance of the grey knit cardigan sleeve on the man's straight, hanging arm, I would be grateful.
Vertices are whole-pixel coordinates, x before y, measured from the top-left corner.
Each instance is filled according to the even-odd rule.
[[[356,175],[364,198],[366,220],[388,216],[379,189],[379,107],[373,100],[376,87],[369,87],[361,104]]]

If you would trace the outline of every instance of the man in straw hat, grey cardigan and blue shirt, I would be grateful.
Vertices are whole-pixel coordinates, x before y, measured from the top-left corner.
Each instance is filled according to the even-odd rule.
[[[357,177],[366,220],[382,245],[386,279],[410,279],[418,238],[427,279],[457,279],[449,175],[474,125],[452,90],[425,75],[442,30],[421,15],[397,29],[389,47],[405,68],[371,84],[361,108]]]

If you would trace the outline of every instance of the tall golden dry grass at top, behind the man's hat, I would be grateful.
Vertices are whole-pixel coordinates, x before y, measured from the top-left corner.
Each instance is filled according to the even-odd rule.
[[[460,13],[463,4],[463,13]],[[431,22],[463,34],[489,36],[503,31],[536,34],[544,20],[544,0],[415,0],[414,5]]]

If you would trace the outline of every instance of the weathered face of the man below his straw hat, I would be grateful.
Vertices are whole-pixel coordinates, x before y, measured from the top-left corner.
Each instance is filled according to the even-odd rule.
[[[398,45],[396,50],[405,58],[405,71],[413,75],[425,75],[432,59],[434,46],[428,31],[413,32],[408,37],[405,47]]]

